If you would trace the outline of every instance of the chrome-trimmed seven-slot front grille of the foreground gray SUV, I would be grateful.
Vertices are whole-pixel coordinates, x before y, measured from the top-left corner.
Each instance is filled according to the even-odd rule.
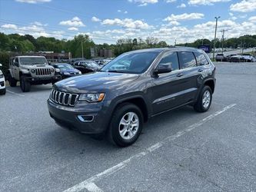
[[[55,102],[55,104],[74,107],[75,103],[78,101],[78,96],[78,94],[70,94],[53,89],[50,94],[50,99]]]

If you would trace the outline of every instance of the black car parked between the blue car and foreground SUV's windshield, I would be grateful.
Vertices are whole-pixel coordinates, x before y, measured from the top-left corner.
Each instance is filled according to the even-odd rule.
[[[98,71],[101,68],[95,61],[75,61],[73,66],[82,74]]]

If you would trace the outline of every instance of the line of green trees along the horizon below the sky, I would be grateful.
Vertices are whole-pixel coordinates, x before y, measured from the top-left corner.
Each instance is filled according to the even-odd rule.
[[[206,38],[198,39],[194,42],[177,44],[178,46],[198,48],[199,45],[210,45],[212,48],[214,41]],[[81,57],[81,45],[84,48],[85,58],[91,58],[90,48],[111,49],[115,56],[120,55],[125,51],[131,51],[141,48],[161,48],[168,47],[165,41],[158,38],[148,37],[142,38],[123,38],[118,39],[115,44],[96,45],[88,35],[77,35],[73,39],[57,39],[48,37],[34,38],[32,35],[5,35],[0,33],[0,51],[9,51],[16,53],[37,52],[37,51],[54,51],[54,52],[71,52],[73,58]],[[217,39],[215,46],[221,48],[222,41]],[[239,38],[229,38],[224,41],[224,48],[238,47],[256,47],[256,35],[244,35]]]

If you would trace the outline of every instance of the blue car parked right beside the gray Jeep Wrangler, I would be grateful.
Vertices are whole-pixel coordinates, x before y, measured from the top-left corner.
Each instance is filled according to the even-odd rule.
[[[75,75],[81,74],[81,71],[79,71],[76,68],[73,68],[71,65],[67,63],[57,63],[52,66],[55,68],[56,74],[60,74],[62,76],[62,79],[70,78]]]

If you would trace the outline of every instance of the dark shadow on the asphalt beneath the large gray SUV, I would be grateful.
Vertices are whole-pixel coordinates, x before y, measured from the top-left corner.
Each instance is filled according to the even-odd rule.
[[[196,113],[193,108],[189,106],[159,114],[158,116],[151,118],[148,123],[145,123],[144,129],[142,130],[141,136],[138,138],[138,141],[130,147],[145,148],[142,146],[148,144],[148,138],[150,138],[150,141],[152,141],[151,138],[153,137],[167,137],[171,134],[175,134],[176,132],[181,131],[181,129],[184,128],[182,124],[197,115],[198,113]],[[45,135],[45,137],[51,138],[52,135],[55,136],[54,138],[52,138],[53,140],[51,145],[56,147],[64,147],[62,145],[65,143],[65,145],[67,145],[68,147],[72,147],[76,151],[86,151],[86,148],[98,148],[101,149],[100,151],[107,150],[108,153],[111,151],[120,151],[122,149],[121,147],[115,146],[115,144],[111,144],[108,141],[107,135],[105,135],[105,137],[101,139],[95,139],[89,134],[80,134],[76,131],[59,127],[57,124],[54,126],[54,129],[52,131],[48,132],[48,134]]]

